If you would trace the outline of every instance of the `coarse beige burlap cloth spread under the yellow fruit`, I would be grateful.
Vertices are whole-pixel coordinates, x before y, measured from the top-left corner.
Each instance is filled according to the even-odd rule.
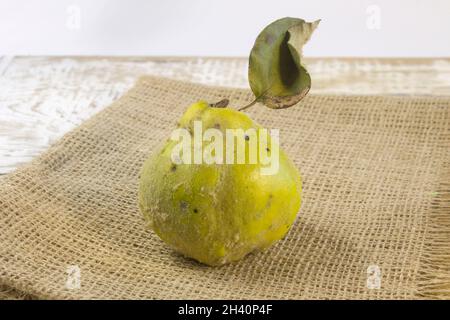
[[[445,298],[450,98],[308,96],[248,113],[280,128],[304,180],[288,236],[220,268],[144,228],[143,161],[199,99],[250,92],[144,77],[29,165],[0,178],[0,297]],[[78,266],[80,288],[67,287]],[[380,288],[368,288],[369,266]]]

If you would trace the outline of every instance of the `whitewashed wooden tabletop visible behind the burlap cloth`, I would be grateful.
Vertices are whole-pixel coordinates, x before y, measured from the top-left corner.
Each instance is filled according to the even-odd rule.
[[[450,58],[306,62],[312,94],[450,95]],[[248,88],[246,58],[0,57],[0,174],[40,154],[144,74]]]

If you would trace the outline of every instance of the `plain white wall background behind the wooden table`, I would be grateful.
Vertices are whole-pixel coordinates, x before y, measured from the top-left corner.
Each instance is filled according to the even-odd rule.
[[[307,56],[450,56],[449,0],[0,0],[0,55],[247,56],[284,16]]]

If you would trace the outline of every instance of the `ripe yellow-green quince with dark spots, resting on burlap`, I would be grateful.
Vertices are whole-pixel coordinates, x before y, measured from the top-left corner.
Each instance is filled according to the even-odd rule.
[[[242,112],[204,101],[191,105],[179,126],[192,132],[194,121],[224,136],[225,129],[261,128]],[[262,175],[261,163],[175,165],[171,153],[177,143],[168,140],[144,163],[139,185],[141,212],[163,241],[216,266],[286,235],[300,209],[301,178],[281,148],[277,173]]]

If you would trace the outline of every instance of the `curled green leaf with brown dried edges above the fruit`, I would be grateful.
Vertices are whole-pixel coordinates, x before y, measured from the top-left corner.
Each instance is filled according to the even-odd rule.
[[[320,20],[283,18],[258,35],[250,53],[248,78],[256,101],[288,108],[306,96],[311,77],[302,64],[302,48]]]

